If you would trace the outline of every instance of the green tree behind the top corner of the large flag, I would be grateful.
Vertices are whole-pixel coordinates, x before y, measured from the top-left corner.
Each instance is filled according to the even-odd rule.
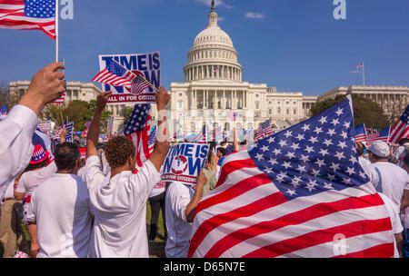
[[[322,113],[324,110],[341,103],[346,99],[346,95],[337,95],[335,98],[328,98],[322,102],[316,103],[311,109],[312,116]],[[381,130],[389,126],[389,118],[384,114],[379,104],[370,99],[364,98],[357,94],[352,94],[354,109],[354,126],[365,124],[366,127],[372,127]]]

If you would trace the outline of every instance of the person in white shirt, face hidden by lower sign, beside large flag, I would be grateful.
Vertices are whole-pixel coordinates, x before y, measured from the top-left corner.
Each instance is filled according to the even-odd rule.
[[[197,204],[202,200],[206,182],[207,179],[202,170],[197,176],[195,189],[192,185],[181,182],[168,183],[165,194],[167,258],[187,258],[192,222]]]

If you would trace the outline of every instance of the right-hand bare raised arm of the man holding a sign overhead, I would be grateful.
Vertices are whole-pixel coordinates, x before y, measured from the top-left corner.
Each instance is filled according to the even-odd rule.
[[[170,95],[165,91],[165,87],[160,87],[156,93],[156,105],[158,113],[157,134],[155,150],[149,160],[155,165],[159,172],[169,151],[169,126],[166,120],[166,104],[169,102]]]

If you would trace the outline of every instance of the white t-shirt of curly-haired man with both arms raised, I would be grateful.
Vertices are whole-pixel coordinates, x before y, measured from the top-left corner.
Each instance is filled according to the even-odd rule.
[[[124,171],[106,184],[98,156],[86,160],[86,184],[95,208],[92,258],[148,258],[146,202],[161,180],[149,160],[138,173]]]

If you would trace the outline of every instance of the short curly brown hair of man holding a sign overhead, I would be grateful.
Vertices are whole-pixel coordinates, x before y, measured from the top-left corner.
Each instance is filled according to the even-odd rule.
[[[135,145],[125,136],[115,136],[105,144],[105,157],[113,169],[125,165],[129,157],[135,156]]]

